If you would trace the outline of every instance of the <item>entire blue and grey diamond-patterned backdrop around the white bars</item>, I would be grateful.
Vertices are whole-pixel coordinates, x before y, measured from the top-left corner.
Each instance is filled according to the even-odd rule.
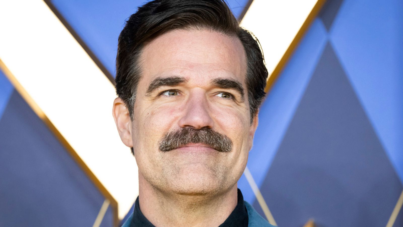
[[[114,77],[123,21],[144,1],[46,2]],[[239,18],[251,1],[228,2]],[[402,44],[403,1],[323,6],[264,101],[249,153],[278,226],[386,225],[403,190]],[[0,177],[1,226],[88,226],[105,200],[1,71]],[[238,187],[265,217],[244,175]]]

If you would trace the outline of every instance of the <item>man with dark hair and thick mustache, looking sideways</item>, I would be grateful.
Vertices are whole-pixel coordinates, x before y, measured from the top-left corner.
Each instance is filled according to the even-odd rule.
[[[267,76],[222,0],[155,0],[131,15],[113,106],[139,169],[124,226],[271,226],[237,189]]]

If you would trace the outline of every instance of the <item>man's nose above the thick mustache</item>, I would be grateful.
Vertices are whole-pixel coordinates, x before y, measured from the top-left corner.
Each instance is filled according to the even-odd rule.
[[[201,129],[213,127],[214,121],[211,118],[209,103],[204,92],[191,94],[185,105],[185,111],[179,120],[181,128]]]

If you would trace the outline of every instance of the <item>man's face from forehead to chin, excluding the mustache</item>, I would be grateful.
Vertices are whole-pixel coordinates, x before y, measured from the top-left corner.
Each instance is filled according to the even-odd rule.
[[[140,61],[131,141],[123,139],[134,148],[139,177],[167,193],[231,189],[245,169],[257,126],[257,118],[250,124],[239,39],[208,30],[173,30],[147,43]],[[231,149],[187,143],[162,151],[166,135],[183,128],[211,129],[229,139]]]

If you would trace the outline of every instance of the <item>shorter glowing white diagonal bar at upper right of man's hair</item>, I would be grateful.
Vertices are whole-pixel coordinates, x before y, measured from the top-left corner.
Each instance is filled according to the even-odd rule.
[[[318,0],[253,0],[241,26],[259,39],[269,75]]]

